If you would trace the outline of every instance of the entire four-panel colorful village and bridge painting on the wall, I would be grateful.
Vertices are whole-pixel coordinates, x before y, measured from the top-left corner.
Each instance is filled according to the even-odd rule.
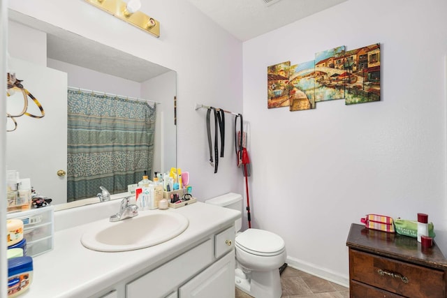
[[[380,100],[380,44],[346,51],[317,52],[315,59],[291,66],[268,66],[268,108],[310,110],[316,103],[344,99],[346,105]]]

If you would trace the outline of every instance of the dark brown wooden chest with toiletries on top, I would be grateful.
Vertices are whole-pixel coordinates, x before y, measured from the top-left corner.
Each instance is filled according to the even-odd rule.
[[[446,297],[447,260],[436,244],[353,223],[346,245],[350,297]]]

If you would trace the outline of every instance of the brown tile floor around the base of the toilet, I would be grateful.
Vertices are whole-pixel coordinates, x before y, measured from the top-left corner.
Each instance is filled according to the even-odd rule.
[[[282,298],[348,298],[349,289],[287,267],[281,274]],[[236,298],[251,298],[236,288]]]

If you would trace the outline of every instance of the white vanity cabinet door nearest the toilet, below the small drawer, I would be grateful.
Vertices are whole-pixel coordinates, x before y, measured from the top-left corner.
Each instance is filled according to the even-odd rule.
[[[234,250],[179,288],[179,298],[234,298]]]

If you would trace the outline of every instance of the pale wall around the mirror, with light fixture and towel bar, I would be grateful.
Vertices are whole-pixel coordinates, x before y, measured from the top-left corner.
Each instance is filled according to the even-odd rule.
[[[154,36],[85,1],[9,1],[20,13],[177,71],[177,165],[188,170],[193,194],[205,200],[228,191],[242,193],[233,153],[233,119],[226,120],[226,157],[219,172],[208,163],[205,110],[196,103],[242,112],[242,43],[183,0],[143,0],[141,10],[161,22]],[[175,9],[172,9],[175,7]]]

